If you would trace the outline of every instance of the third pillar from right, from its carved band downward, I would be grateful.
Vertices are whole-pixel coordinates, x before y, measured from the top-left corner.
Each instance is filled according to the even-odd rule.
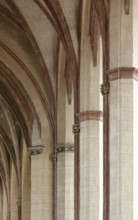
[[[74,146],[58,144],[57,220],[74,220]]]

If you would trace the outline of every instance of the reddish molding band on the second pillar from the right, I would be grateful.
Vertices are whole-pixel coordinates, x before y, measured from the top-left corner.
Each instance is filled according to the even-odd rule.
[[[84,111],[76,114],[79,122],[95,120],[95,121],[103,121],[103,113],[102,111]]]

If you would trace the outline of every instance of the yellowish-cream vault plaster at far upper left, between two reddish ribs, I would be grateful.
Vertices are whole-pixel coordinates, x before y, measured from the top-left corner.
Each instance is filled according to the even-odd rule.
[[[19,30],[15,25],[13,25],[10,21],[6,20],[5,17],[3,17],[2,15],[0,16],[0,41],[4,43],[7,47],[9,47],[16,54],[16,56],[18,56],[22,60],[22,62],[32,72],[34,78],[40,85],[41,89],[45,91],[43,81],[40,77],[41,69],[38,64],[38,61],[36,60],[29,40],[22,33],[22,31]],[[1,57],[4,57],[6,61],[7,58],[5,57],[5,55],[2,53]]]

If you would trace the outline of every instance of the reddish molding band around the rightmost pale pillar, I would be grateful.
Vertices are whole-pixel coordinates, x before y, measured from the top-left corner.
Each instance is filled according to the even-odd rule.
[[[107,71],[109,81],[118,79],[135,79],[138,81],[138,69],[135,67],[119,67]]]

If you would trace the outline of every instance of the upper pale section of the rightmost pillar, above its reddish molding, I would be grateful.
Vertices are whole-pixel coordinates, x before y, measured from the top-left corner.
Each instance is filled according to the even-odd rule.
[[[125,14],[122,0],[110,1],[110,69],[133,66],[133,14]]]

